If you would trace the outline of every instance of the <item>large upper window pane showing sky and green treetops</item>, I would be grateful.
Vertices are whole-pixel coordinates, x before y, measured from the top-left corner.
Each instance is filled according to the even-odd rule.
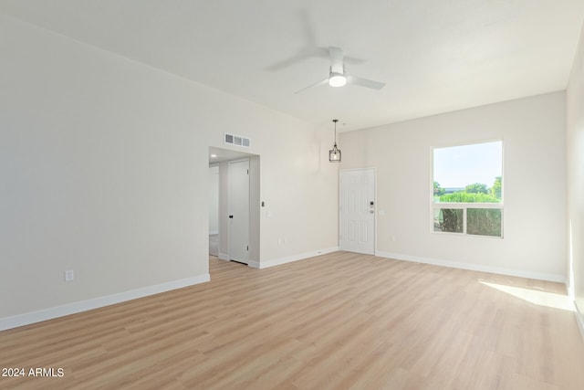
[[[434,203],[501,203],[503,142],[435,148]]]

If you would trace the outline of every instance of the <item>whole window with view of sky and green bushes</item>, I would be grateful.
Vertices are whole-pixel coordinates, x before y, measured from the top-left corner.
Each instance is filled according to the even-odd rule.
[[[503,142],[434,148],[433,231],[503,237]]]

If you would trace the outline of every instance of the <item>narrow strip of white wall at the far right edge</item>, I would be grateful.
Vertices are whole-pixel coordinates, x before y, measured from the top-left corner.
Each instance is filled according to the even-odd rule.
[[[568,282],[584,337],[584,26],[567,90]]]

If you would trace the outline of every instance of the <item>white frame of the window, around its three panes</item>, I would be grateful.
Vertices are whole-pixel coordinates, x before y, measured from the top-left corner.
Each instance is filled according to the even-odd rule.
[[[449,148],[455,146],[465,146],[465,145],[475,145],[479,143],[487,143],[487,142],[501,142],[501,203],[468,203],[468,202],[434,202],[434,150],[435,149],[442,149],[442,148]],[[433,146],[431,150],[431,170],[430,170],[430,231],[433,234],[438,235],[451,235],[451,236],[465,236],[465,237],[485,237],[485,238],[503,238],[505,236],[505,196],[503,192],[505,192],[505,147],[503,144],[502,139],[495,139],[495,140],[488,140],[488,141],[479,141],[479,142],[469,142],[469,143],[460,143],[454,144],[449,146]],[[462,209],[463,210],[463,231],[462,232],[444,232],[439,230],[434,230],[434,215],[436,210],[441,208],[450,208],[450,209]],[[497,208],[501,210],[501,236],[484,236],[484,235],[475,235],[475,234],[468,234],[466,231],[466,211],[469,208]]]

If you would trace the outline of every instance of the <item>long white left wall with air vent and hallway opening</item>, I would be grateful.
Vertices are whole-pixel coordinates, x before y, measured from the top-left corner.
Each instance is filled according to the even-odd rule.
[[[0,329],[208,278],[224,131],[261,155],[261,261],[337,245],[312,125],[1,14],[0,51]]]

